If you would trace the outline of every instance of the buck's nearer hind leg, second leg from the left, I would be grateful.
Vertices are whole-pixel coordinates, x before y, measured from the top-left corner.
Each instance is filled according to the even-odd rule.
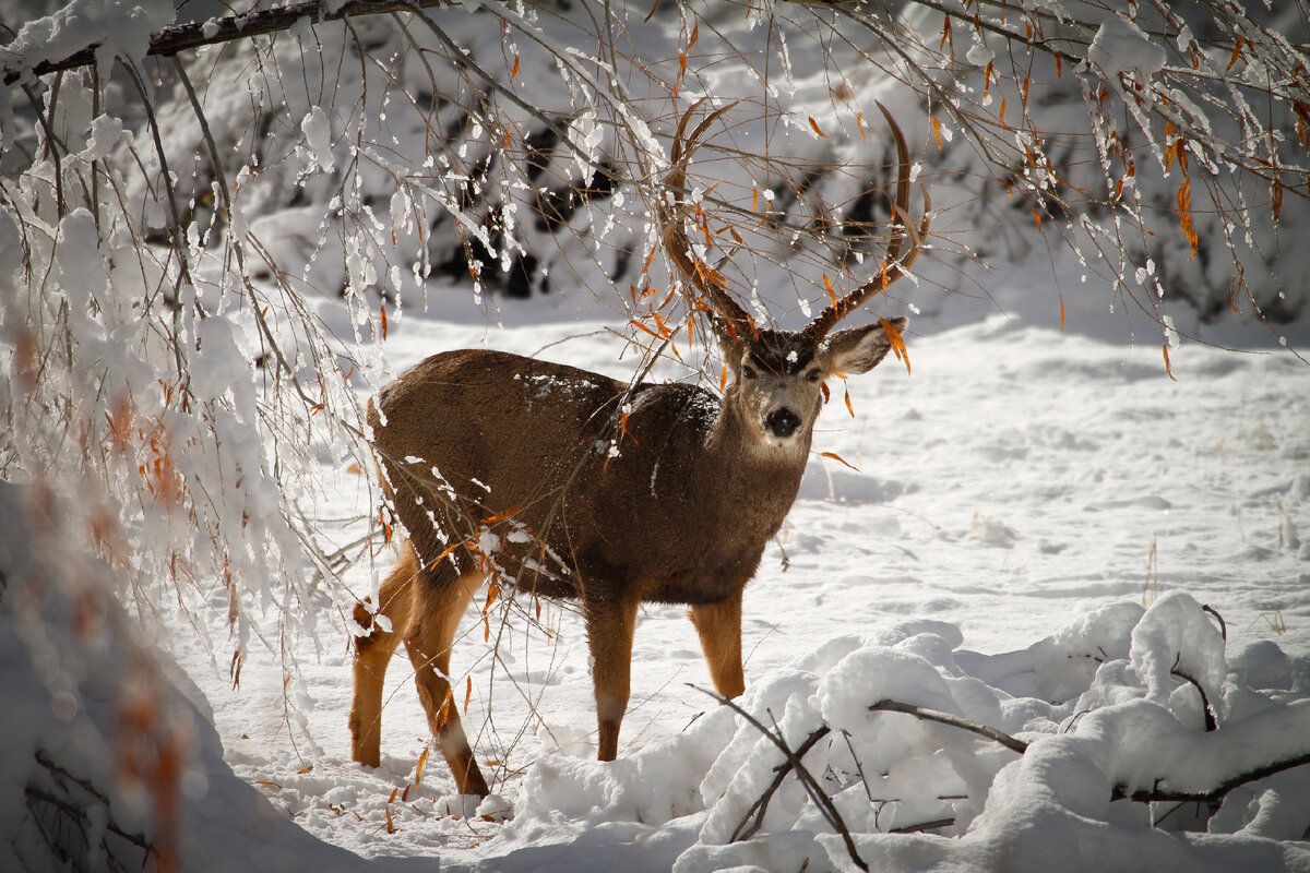
[[[457,577],[447,573],[440,581],[431,576],[423,580],[415,592],[417,620],[405,637],[405,648],[414,664],[419,700],[436,736],[438,749],[455,775],[455,784],[461,794],[486,797],[491,791],[473,758],[449,682],[455,633],[473,593],[481,586],[482,575],[477,572]]]

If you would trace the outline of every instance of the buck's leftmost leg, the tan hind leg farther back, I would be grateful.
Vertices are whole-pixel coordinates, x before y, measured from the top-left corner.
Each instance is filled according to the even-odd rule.
[[[377,613],[390,622],[384,631],[363,603],[355,606],[355,622],[368,628],[355,640],[355,696],[350,708],[350,757],[365,767],[377,767],[383,739],[383,679],[396,647],[414,616],[418,559],[406,543],[400,563],[377,594]]]

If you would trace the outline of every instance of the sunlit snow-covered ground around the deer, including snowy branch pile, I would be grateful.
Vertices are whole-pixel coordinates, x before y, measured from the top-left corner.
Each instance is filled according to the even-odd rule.
[[[436,351],[469,346],[534,353],[616,377],[633,372],[631,355],[621,360],[625,343],[609,325],[578,321],[558,301],[503,304],[498,318],[506,327],[489,326],[472,302],[462,315],[449,317],[460,305],[443,309],[448,315],[440,319],[409,312],[390,332],[386,353],[396,372]],[[1128,869],[1119,864],[1125,857],[1120,852],[1146,852],[1142,857],[1165,869],[1237,869],[1227,866],[1231,859],[1255,861],[1250,869],[1293,861],[1307,866],[1310,852],[1289,844],[1280,848],[1250,835],[1227,842],[1166,835],[1148,826],[1146,806],[1107,804],[1112,783],[1150,788],[1151,766],[1175,789],[1205,791],[1222,781],[1207,784],[1226,762],[1238,768],[1225,771],[1230,776],[1241,772],[1239,760],[1279,758],[1286,751],[1276,747],[1279,737],[1305,746],[1310,736],[1303,707],[1292,707],[1282,721],[1243,738],[1241,750],[1213,739],[1225,730],[1235,736],[1229,719],[1264,705],[1251,699],[1293,699],[1310,690],[1310,541],[1301,542],[1310,537],[1310,376],[1284,349],[1239,353],[1187,343],[1172,353],[1171,381],[1154,342],[1103,343],[1076,327],[1065,334],[1034,327],[1015,313],[941,331],[924,319],[920,330],[912,325],[909,372],[888,360],[850,380],[854,418],[838,389],[820,418],[815,452],[834,453],[855,470],[816,454],[800,499],[747,589],[745,703],[761,717],[769,707],[795,746],[817,724],[815,708],[824,705],[815,685],[842,674],[848,685],[829,696],[848,707],[859,695],[866,704],[908,698],[1027,739],[1058,742],[1049,734],[1066,733],[1066,745],[1098,742],[1087,737],[1110,742],[1104,734],[1117,732],[1112,746],[1136,747],[1138,757],[1128,764],[1093,755],[1103,764],[1096,779],[1085,772],[1085,759],[1083,768],[1070,770],[1068,749],[1057,755],[1062,768],[1034,763],[1035,776],[1011,767],[986,800],[984,821],[975,817],[986,787],[1014,753],[954,728],[917,726],[905,715],[866,716],[865,733],[850,729],[867,755],[863,776],[880,783],[871,789],[875,800],[899,802],[866,801],[865,810],[880,815],[875,822],[857,813],[852,830],[958,819],[935,831],[948,838],[859,838],[866,859],[882,857],[892,868],[986,866],[1006,846],[1027,859],[1017,869],[1056,857],[1070,869]],[[656,374],[681,376],[673,369]],[[339,504],[322,507],[322,516],[372,517],[365,479],[352,470],[334,475]],[[364,526],[339,530],[346,543]],[[389,560],[381,548],[350,571],[359,596],[373,589]],[[1142,631],[1127,661],[1141,607],[1157,603],[1163,611],[1150,615],[1165,630],[1155,636]],[[1224,618],[1226,645],[1199,605]],[[736,823],[724,831],[724,821],[745,811],[741,796],[753,792],[748,806],[762,792],[757,784],[728,785],[739,767],[751,771],[743,749],[758,734],[735,725],[727,709],[693,687],[710,682],[681,609],[642,610],[621,760],[599,764],[592,760],[592,686],[579,616],[548,607],[541,619],[548,635],[529,632],[519,615],[502,614],[510,627],[502,664],[493,669],[482,598],[470,607],[453,679],[457,688],[472,687],[465,724],[503,798],[482,811],[508,806],[508,823],[462,815],[451,796],[453,781],[435,755],[417,780],[427,728],[403,656],[388,677],[381,768],[350,762],[348,633],[326,598],[317,609],[322,649],[304,643],[292,653],[300,688],[288,691],[284,658],[272,652],[257,650],[246,660],[237,690],[199,647],[183,645],[179,657],[214,707],[234,770],[324,840],[365,857],[439,859],[452,869],[658,870],[680,855],[677,869],[688,870],[736,864],[799,869],[806,857],[808,869],[849,865],[841,843],[815,842],[812,832],[831,828],[812,805],[798,814],[799,787],[786,800],[779,793],[776,806],[790,811],[770,813],[777,818],[766,821],[764,834],[772,836],[732,849],[718,846]],[[224,630],[216,626],[214,633],[221,639]],[[186,639],[194,637],[177,636]],[[857,652],[862,643],[884,647]],[[1159,679],[1148,681],[1153,674],[1146,665],[1172,658],[1169,647],[1178,647],[1184,666],[1188,658],[1208,665],[1210,678],[1201,682],[1210,682],[1217,734],[1200,730],[1199,698],[1189,698],[1188,687],[1172,691],[1183,681],[1172,679],[1163,691],[1150,686]],[[838,670],[834,665],[852,652]],[[855,682],[850,670],[863,669],[861,658],[867,673],[857,673]],[[1099,661],[1110,664],[1095,673]],[[1172,666],[1163,664],[1165,682]],[[952,691],[943,696],[943,688],[931,687],[934,679]],[[1239,690],[1241,683],[1276,690]],[[1148,730],[1138,713],[1123,716],[1129,730],[1115,721],[1120,716],[1104,716],[1102,707],[1132,709],[1138,698],[1170,700],[1188,726],[1172,721],[1169,730]],[[1089,709],[1117,726],[1078,716]],[[732,739],[735,730],[743,733]],[[1196,751],[1195,743],[1208,737],[1209,751]],[[812,754],[828,760],[838,751]],[[904,762],[913,767],[897,771]],[[755,771],[766,780],[772,766]],[[845,770],[829,766],[837,788],[858,779],[849,762]],[[815,767],[816,775],[824,770]],[[1300,772],[1282,777],[1281,796],[1302,805],[1290,818],[1303,831],[1310,776]],[[1064,796],[1048,797],[1039,789],[1043,780],[1061,785]],[[865,797],[863,789],[858,794]],[[1157,805],[1153,814],[1161,818],[1170,806]],[[1243,819],[1241,809],[1225,808],[1216,821],[1237,822],[1229,827],[1237,830],[1254,814]],[[959,838],[969,822],[972,830]],[[1066,844],[1087,839],[1093,843],[1082,848]]]

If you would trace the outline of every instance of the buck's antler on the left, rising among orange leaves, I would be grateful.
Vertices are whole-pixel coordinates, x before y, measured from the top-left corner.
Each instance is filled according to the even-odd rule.
[[[655,212],[660,224],[664,251],[668,254],[669,260],[673,262],[684,281],[689,283],[710,300],[713,310],[723,319],[727,331],[726,339],[736,340],[738,336],[753,334],[755,322],[727,293],[727,280],[723,275],[696,257],[692,242],[686,238],[686,232],[683,229],[683,219],[686,209],[683,199],[686,192],[686,165],[692,160],[692,153],[701,145],[700,139],[705,135],[705,131],[722,118],[724,113],[736,106],[736,103],[728,103],[714,110],[701,119],[701,123],[688,136],[686,126],[705,101],[706,98],[703,97],[696,101],[677,123],[677,132],[673,136],[673,145],[669,149],[672,168],[668,175],[664,177],[664,188],[673,194],[673,202],[671,204],[667,196],[658,198]],[[694,312],[697,309],[694,296],[689,296],[688,302]],[[715,329],[718,330],[717,321]],[[722,335],[723,331],[719,332]]]

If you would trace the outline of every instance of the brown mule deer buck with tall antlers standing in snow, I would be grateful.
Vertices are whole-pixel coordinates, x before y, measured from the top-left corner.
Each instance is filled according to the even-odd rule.
[[[731,383],[722,399],[692,385],[622,382],[515,355],[455,351],[418,364],[369,404],[384,490],[409,533],[356,643],[351,755],[379,764],[383,675],[400,643],[438,746],[464,794],[487,794],[449,686],[451,647],[489,571],[523,594],[579,601],[593,658],[599,758],[613,760],[629,696],[642,602],[685,603],[719,694],[744,690],[741,592],[800,486],[823,382],[865,373],[907,319],[832,332],[914,262],[927,233],[909,220],[910,162],[900,161],[879,275],[833,297],[802,331],[757,329],[701,262],[684,220],[688,161],[706,128],[673,140],[663,245],[693,310],[709,314]],[[910,246],[901,251],[909,238]],[[618,446],[617,454],[610,450]],[[489,544],[487,534],[495,534]],[[466,547],[468,546],[468,547]],[[495,584],[495,582],[494,582]]]

